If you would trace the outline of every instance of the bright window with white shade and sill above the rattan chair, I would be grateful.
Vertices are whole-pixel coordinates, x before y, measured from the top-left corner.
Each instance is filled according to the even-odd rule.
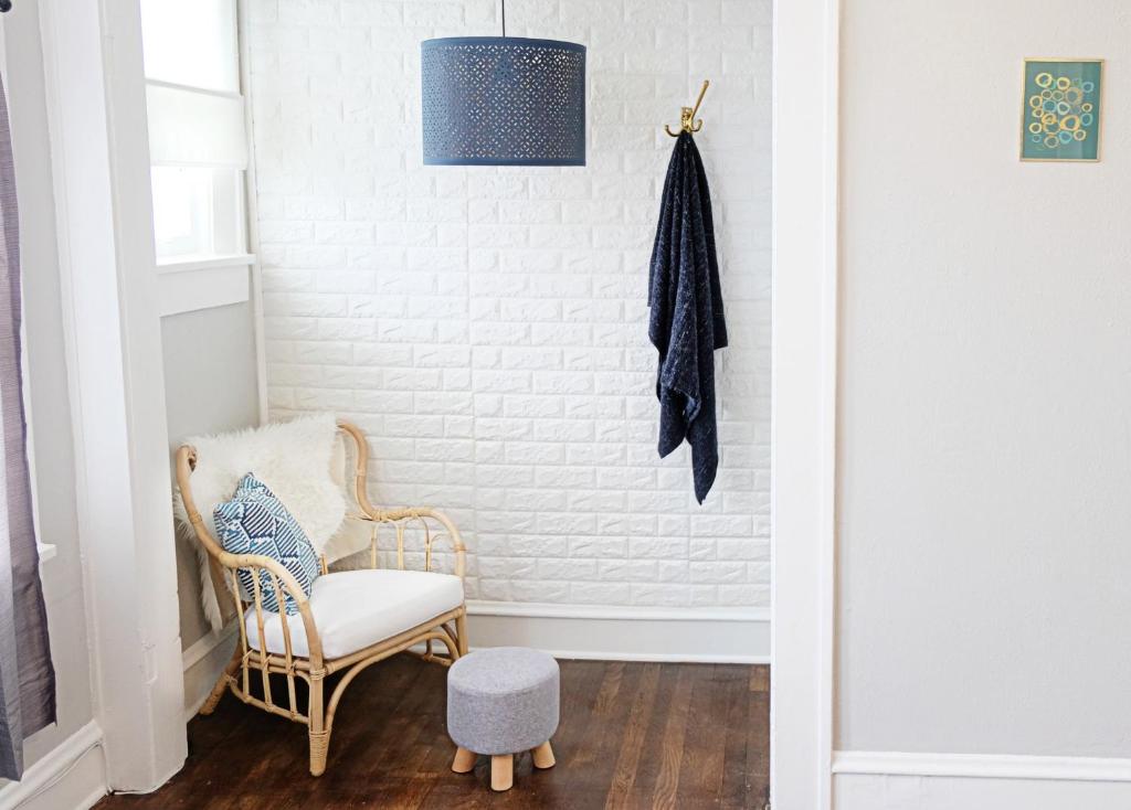
[[[253,256],[236,0],[141,0],[141,28],[157,269],[207,270],[199,285],[231,270],[226,284],[214,284],[219,299],[202,288],[184,295],[183,275],[167,279],[162,314],[234,303],[240,290],[245,301]]]

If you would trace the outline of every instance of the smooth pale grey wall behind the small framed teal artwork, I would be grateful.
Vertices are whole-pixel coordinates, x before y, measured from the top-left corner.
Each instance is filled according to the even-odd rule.
[[[1131,757],[1129,7],[843,14],[836,744]],[[1108,59],[1103,163],[1018,162],[1041,55]]]

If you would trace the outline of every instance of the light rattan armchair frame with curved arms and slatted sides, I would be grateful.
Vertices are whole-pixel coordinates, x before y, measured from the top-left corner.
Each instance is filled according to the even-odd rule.
[[[236,619],[240,633],[240,641],[236,644],[232,661],[216,682],[211,694],[200,708],[200,713],[206,715],[211,714],[224,693],[231,689],[244,703],[305,724],[310,733],[310,773],[313,776],[321,775],[326,769],[326,755],[329,747],[330,731],[334,725],[335,709],[342,698],[342,693],[345,691],[346,687],[349,686],[363,669],[390,655],[409,651],[411,647],[421,644],[424,645],[424,652],[417,652],[416,654],[422,655],[429,661],[446,665],[449,665],[467,652],[467,613],[463,602],[465,550],[459,538],[459,531],[447,516],[435,509],[404,508],[383,511],[370,504],[365,487],[369,456],[365,437],[357,427],[348,423],[339,421],[338,429],[347,444],[353,444],[355,451],[353,495],[360,507],[360,513],[347,515],[347,520],[363,521],[371,525],[369,568],[379,568],[378,530],[383,526],[387,532],[391,530],[396,538],[395,559],[397,567],[395,571],[405,572],[405,533],[406,529],[411,529],[423,537],[424,572],[432,572],[435,554],[439,554],[437,550],[438,543],[450,546],[455,557],[455,576],[459,577],[458,584],[460,590],[458,607],[447,609],[435,616],[430,616],[426,620],[420,621],[412,627],[403,627],[397,632],[389,630],[390,635],[373,641],[361,648],[349,650],[346,646],[345,648],[336,650],[336,656],[334,657],[323,654],[323,638],[319,636],[319,628],[316,621],[318,604],[312,604],[311,601],[311,599],[317,596],[317,593],[312,594],[311,599],[308,599],[291,573],[278,561],[269,557],[233,555],[219,546],[208,531],[192,499],[191,476],[197,464],[197,451],[190,445],[183,445],[176,452],[176,481],[180,486],[185,512],[188,513],[197,540],[208,550],[214,580],[219,580],[222,583],[217,587],[217,593],[222,599],[224,616],[226,619]],[[392,552],[392,549],[389,549],[382,554],[388,554],[391,557]],[[333,581],[333,577],[343,575],[339,573],[329,573],[325,558],[321,559],[321,567],[322,576],[319,577],[319,581],[316,581],[316,586],[318,582],[323,580],[334,584],[335,581]],[[241,594],[235,576],[236,572],[241,568],[266,572],[266,580],[274,589],[277,603],[284,604],[283,594],[288,594],[297,603],[299,616],[290,617],[288,620],[284,621],[278,613],[264,609],[262,592],[259,584],[261,575],[251,577],[253,593]],[[390,567],[385,571],[394,569]],[[345,575],[356,575],[356,572],[347,572]],[[413,573],[411,576],[420,577],[421,575]],[[433,574],[433,576],[449,575]],[[356,583],[359,580],[355,578],[353,582]],[[420,582],[420,578],[414,580],[409,587],[402,589],[407,594],[405,596],[406,601],[416,599],[414,593],[421,590],[417,585]],[[428,582],[439,581],[429,580]],[[450,583],[443,584],[446,586],[450,585]],[[450,602],[450,587],[447,589],[447,593]],[[236,595],[233,596],[232,594]],[[339,600],[339,606],[343,601],[353,603],[364,600]],[[417,606],[417,608],[420,607]],[[346,604],[344,609],[353,610],[354,608]],[[364,606],[360,609],[364,610]],[[364,617],[360,618],[363,619]],[[395,622],[391,627],[396,629]],[[275,632],[267,633],[265,628],[274,629]],[[383,632],[380,629],[377,633],[383,635]],[[282,635],[282,638],[279,638],[279,635]],[[440,642],[447,647],[446,656],[433,653],[433,642]],[[340,644],[338,645],[338,647],[342,646]],[[266,650],[264,650],[265,647]],[[323,686],[327,677],[334,673],[342,673],[342,677],[334,687],[333,693],[330,693],[329,702],[327,703],[325,700]],[[273,674],[285,676],[285,699],[283,696],[273,693],[270,681],[270,676]],[[261,682],[261,697],[251,694],[252,679],[258,679]],[[295,679],[305,681],[309,687],[309,702],[305,713],[300,711],[302,707],[296,700]]]

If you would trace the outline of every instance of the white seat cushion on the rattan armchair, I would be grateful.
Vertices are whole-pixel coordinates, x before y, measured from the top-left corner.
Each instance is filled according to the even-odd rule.
[[[464,582],[450,574],[420,571],[343,571],[314,580],[310,610],[322,642],[322,656],[337,659],[391,638],[464,603]],[[248,643],[259,650],[256,610],[244,615]],[[302,616],[287,617],[291,650],[310,655]],[[278,613],[264,613],[267,651],[285,654]]]

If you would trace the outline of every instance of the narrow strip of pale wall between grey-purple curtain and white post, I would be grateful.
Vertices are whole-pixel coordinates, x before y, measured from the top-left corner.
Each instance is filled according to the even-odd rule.
[[[54,557],[41,566],[41,574],[55,668],[58,723],[29,740],[25,750],[25,766],[29,767],[88,723],[93,708],[38,8],[21,5],[0,18],[0,31],[19,195],[24,372],[34,432],[38,539],[55,546]]]

